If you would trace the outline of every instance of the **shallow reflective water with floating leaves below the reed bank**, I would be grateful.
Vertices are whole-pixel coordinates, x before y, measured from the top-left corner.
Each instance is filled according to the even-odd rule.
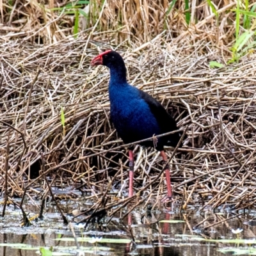
[[[6,217],[1,218],[0,255],[39,255],[36,254],[39,253],[39,247],[49,249],[51,246],[54,252],[66,253],[62,255],[77,255],[79,250],[72,232],[63,225],[60,214],[54,212],[54,209],[53,207],[51,213],[44,214],[44,220],[33,221],[31,227],[20,227],[20,211],[14,210],[12,205],[8,206]],[[124,213],[120,212],[110,221],[106,217],[102,225],[89,225],[86,230],[77,228],[73,222],[77,239],[84,237],[83,242],[78,242],[80,251],[84,255],[205,256],[224,255],[224,251],[220,250],[227,249],[227,255],[256,255],[256,242],[253,241],[256,228],[251,221],[256,216],[255,212],[213,213],[191,209],[179,214],[177,209],[179,208],[175,207],[175,211],[145,211],[136,208],[129,217],[131,226],[127,225],[128,218],[124,222],[120,221],[125,209]],[[237,214],[240,215],[227,220]],[[69,219],[72,221],[71,217]],[[161,223],[159,220],[176,222]],[[109,223],[106,225],[107,221]],[[243,231],[233,234],[232,229],[237,228],[242,228]],[[99,237],[99,241],[96,239],[97,243],[94,236]],[[135,243],[131,243],[132,237]],[[21,248],[26,244],[28,246]]]

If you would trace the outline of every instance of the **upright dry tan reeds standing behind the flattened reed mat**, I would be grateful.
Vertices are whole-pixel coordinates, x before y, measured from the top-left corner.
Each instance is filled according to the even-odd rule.
[[[33,44],[53,44],[69,35],[90,33],[115,45],[130,45],[144,44],[168,30],[176,42],[196,42],[204,34],[206,42],[218,47],[234,43],[237,2],[209,2],[211,5],[189,0],[10,1],[0,4],[0,35],[6,41],[20,38]],[[244,8],[244,1],[240,2]],[[252,7],[253,3],[247,9]]]

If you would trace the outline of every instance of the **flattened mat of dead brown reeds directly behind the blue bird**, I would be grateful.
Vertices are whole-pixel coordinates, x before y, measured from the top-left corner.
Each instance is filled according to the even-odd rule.
[[[161,37],[140,51],[118,51],[129,81],[161,101],[180,129],[188,127],[184,147],[171,163],[175,199],[236,209],[253,204],[254,56],[216,69],[209,67],[209,60],[225,63],[221,52],[209,49],[199,54],[198,45],[163,42]],[[128,160],[125,148],[116,149],[122,141],[109,120],[109,72],[90,67],[99,53],[97,42],[89,42],[86,51],[84,44],[86,40],[76,39],[46,47],[17,41],[1,45],[1,187],[8,164],[9,195],[22,196],[27,184],[44,188],[44,175],[32,179],[42,169],[42,153],[45,174],[56,175],[52,186],[72,185],[100,196],[115,175],[109,193],[126,195]],[[199,46],[202,52],[209,48]],[[163,176],[143,189],[161,171],[159,153],[140,147],[135,151],[136,191],[143,198],[161,197]],[[172,149],[166,152],[170,156]]]

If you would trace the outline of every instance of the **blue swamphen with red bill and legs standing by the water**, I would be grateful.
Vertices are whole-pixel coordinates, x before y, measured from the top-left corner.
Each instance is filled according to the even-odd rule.
[[[118,136],[125,144],[144,140],[154,135],[178,130],[175,120],[164,107],[153,97],[138,88],[131,86],[126,80],[126,68],[123,58],[115,51],[105,51],[93,58],[92,66],[104,65],[110,70],[109,100],[110,116]],[[180,134],[163,136],[156,141],[146,141],[140,145],[155,147],[161,152],[164,163],[167,161],[164,145],[176,147]],[[134,175],[134,157],[129,148],[129,196],[132,196]],[[172,197],[170,168],[165,170],[167,196]]]

